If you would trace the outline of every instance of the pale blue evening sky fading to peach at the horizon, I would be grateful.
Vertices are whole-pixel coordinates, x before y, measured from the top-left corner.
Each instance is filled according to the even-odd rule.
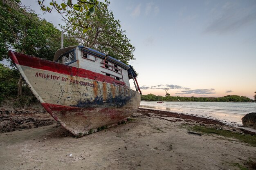
[[[57,28],[65,24],[35,0],[21,2]],[[169,88],[171,96],[253,98],[255,0],[110,0],[109,9],[136,48],[129,63],[144,95]]]

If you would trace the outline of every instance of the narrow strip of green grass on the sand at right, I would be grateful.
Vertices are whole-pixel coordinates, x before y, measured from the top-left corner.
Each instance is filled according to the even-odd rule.
[[[217,130],[215,128],[206,128],[202,126],[193,126],[191,128],[193,131],[209,134],[209,135],[220,135],[224,137],[231,137],[238,139],[241,142],[247,143],[251,146],[256,146],[256,135],[247,135],[238,132],[231,132],[230,130]]]

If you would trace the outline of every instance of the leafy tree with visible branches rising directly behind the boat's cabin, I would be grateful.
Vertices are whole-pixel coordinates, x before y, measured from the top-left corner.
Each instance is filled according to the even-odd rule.
[[[120,21],[115,20],[112,11],[108,10],[108,3],[101,2],[101,10],[97,10],[92,18],[86,18],[85,11],[77,14],[72,11],[67,14],[68,18],[73,18],[74,22],[90,22],[90,28],[85,31],[83,28],[66,22],[62,26],[69,37],[89,48],[101,51],[106,55],[128,63],[135,60],[133,52],[135,47],[130,44],[130,40],[124,34],[126,31],[121,29]],[[82,33],[83,32],[83,33]]]

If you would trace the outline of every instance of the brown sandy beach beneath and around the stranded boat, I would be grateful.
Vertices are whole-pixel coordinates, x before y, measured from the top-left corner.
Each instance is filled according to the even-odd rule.
[[[13,123],[13,126],[16,125],[16,130],[0,133],[0,169],[239,170],[247,168],[250,170],[255,168],[256,147],[252,144],[236,138],[214,133],[209,135],[193,130],[193,127],[205,127],[244,133],[238,128],[226,126],[215,120],[139,108],[132,114],[131,121],[126,124],[77,139],[49,114],[33,109],[23,109],[20,112],[16,111],[15,114],[14,111],[7,113],[1,108],[1,129],[4,127],[4,122],[9,121],[9,123],[16,122]],[[21,117],[23,123],[14,120]],[[252,134],[253,136],[255,134]]]

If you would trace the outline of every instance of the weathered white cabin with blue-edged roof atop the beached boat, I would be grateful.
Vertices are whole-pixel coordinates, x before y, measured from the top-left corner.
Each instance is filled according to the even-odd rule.
[[[131,66],[85,46],[59,49],[54,55],[54,61],[110,76],[120,81],[120,84],[124,82],[128,88],[130,88],[129,79],[137,76]]]

